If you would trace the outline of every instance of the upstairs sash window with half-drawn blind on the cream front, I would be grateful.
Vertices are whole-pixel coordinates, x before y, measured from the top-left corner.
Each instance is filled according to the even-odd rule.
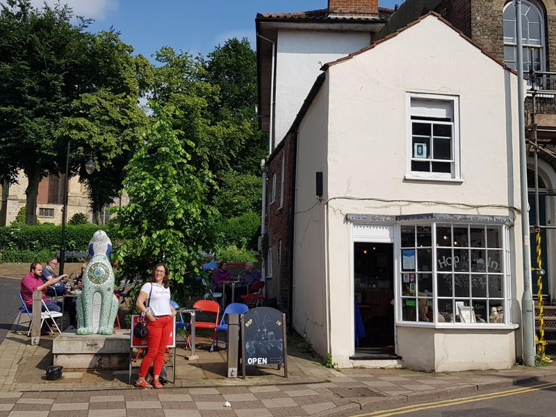
[[[458,98],[409,94],[409,177],[459,179]]]

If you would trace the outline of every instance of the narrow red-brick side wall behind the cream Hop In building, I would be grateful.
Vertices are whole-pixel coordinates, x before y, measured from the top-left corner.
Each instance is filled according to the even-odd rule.
[[[280,208],[281,168],[284,156],[284,200]],[[272,252],[272,279],[268,282],[267,297],[276,297],[279,309],[287,311],[290,295],[291,276],[291,218],[294,197],[295,177],[295,137],[290,134],[272,152],[268,161],[267,193],[272,193],[272,174],[276,173],[276,200],[267,208],[267,236],[268,246]],[[278,246],[280,244],[280,256]]]

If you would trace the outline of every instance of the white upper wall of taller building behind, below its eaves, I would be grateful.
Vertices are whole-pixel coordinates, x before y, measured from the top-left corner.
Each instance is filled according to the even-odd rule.
[[[370,33],[278,31],[275,146],[284,139],[323,64],[370,43]]]

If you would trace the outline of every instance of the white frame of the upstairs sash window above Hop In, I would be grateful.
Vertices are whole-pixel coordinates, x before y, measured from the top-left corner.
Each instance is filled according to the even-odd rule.
[[[460,152],[459,152],[459,96],[422,94],[418,92],[407,92],[406,95],[406,122],[407,122],[407,168],[405,179],[422,179],[435,181],[459,181],[461,182]],[[413,158],[413,138],[411,120],[411,100],[425,101],[448,101],[452,106],[452,122],[438,122],[439,124],[452,124],[452,159],[451,172],[421,172],[411,170]],[[431,136],[432,138],[432,136]],[[434,161],[427,158],[426,161]],[[439,160],[442,162],[443,160]]]

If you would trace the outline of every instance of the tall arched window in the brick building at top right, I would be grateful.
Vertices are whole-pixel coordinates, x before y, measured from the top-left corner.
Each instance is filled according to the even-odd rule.
[[[533,69],[542,71],[545,61],[544,18],[539,8],[530,1],[521,2],[521,16],[523,25],[523,71]],[[516,40],[516,9],[510,1],[504,8],[504,62],[516,70],[517,61]]]

